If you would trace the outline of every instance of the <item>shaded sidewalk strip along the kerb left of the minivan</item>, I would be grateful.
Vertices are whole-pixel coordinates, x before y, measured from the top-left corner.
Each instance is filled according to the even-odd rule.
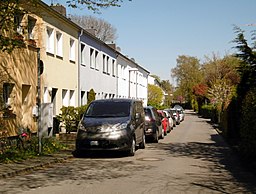
[[[0,179],[13,177],[22,173],[30,172],[36,169],[51,166],[56,163],[62,163],[73,158],[73,150],[62,150],[58,153],[38,156],[21,162],[11,162],[8,164],[0,164]]]

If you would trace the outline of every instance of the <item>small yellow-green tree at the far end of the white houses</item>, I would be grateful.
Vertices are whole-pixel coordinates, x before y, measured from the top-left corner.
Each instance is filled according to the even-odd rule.
[[[162,103],[163,92],[158,86],[148,84],[148,105],[159,107]]]

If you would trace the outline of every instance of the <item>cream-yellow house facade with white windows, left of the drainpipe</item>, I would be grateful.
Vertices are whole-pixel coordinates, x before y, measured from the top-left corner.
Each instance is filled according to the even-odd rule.
[[[53,116],[62,106],[77,106],[78,34],[80,28],[42,3],[40,9],[41,102],[52,103]]]

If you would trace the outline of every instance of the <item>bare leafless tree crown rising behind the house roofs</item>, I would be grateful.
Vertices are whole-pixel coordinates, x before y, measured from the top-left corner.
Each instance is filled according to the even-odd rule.
[[[94,30],[95,36],[103,42],[115,42],[117,39],[116,28],[103,19],[71,15],[71,20],[86,30]]]

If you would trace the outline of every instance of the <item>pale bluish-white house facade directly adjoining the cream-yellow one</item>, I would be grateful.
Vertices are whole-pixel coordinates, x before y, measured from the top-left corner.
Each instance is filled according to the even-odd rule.
[[[116,51],[85,30],[79,40],[79,104],[87,104],[91,89],[96,99],[117,98]]]

